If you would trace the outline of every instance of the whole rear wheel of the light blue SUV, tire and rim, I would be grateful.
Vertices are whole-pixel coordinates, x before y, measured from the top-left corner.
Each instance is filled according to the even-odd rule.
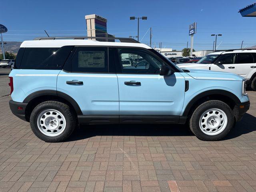
[[[57,101],[38,104],[30,116],[34,134],[45,142],[61,142],[67,139],[76,127],[76,117],[70,107]]]

